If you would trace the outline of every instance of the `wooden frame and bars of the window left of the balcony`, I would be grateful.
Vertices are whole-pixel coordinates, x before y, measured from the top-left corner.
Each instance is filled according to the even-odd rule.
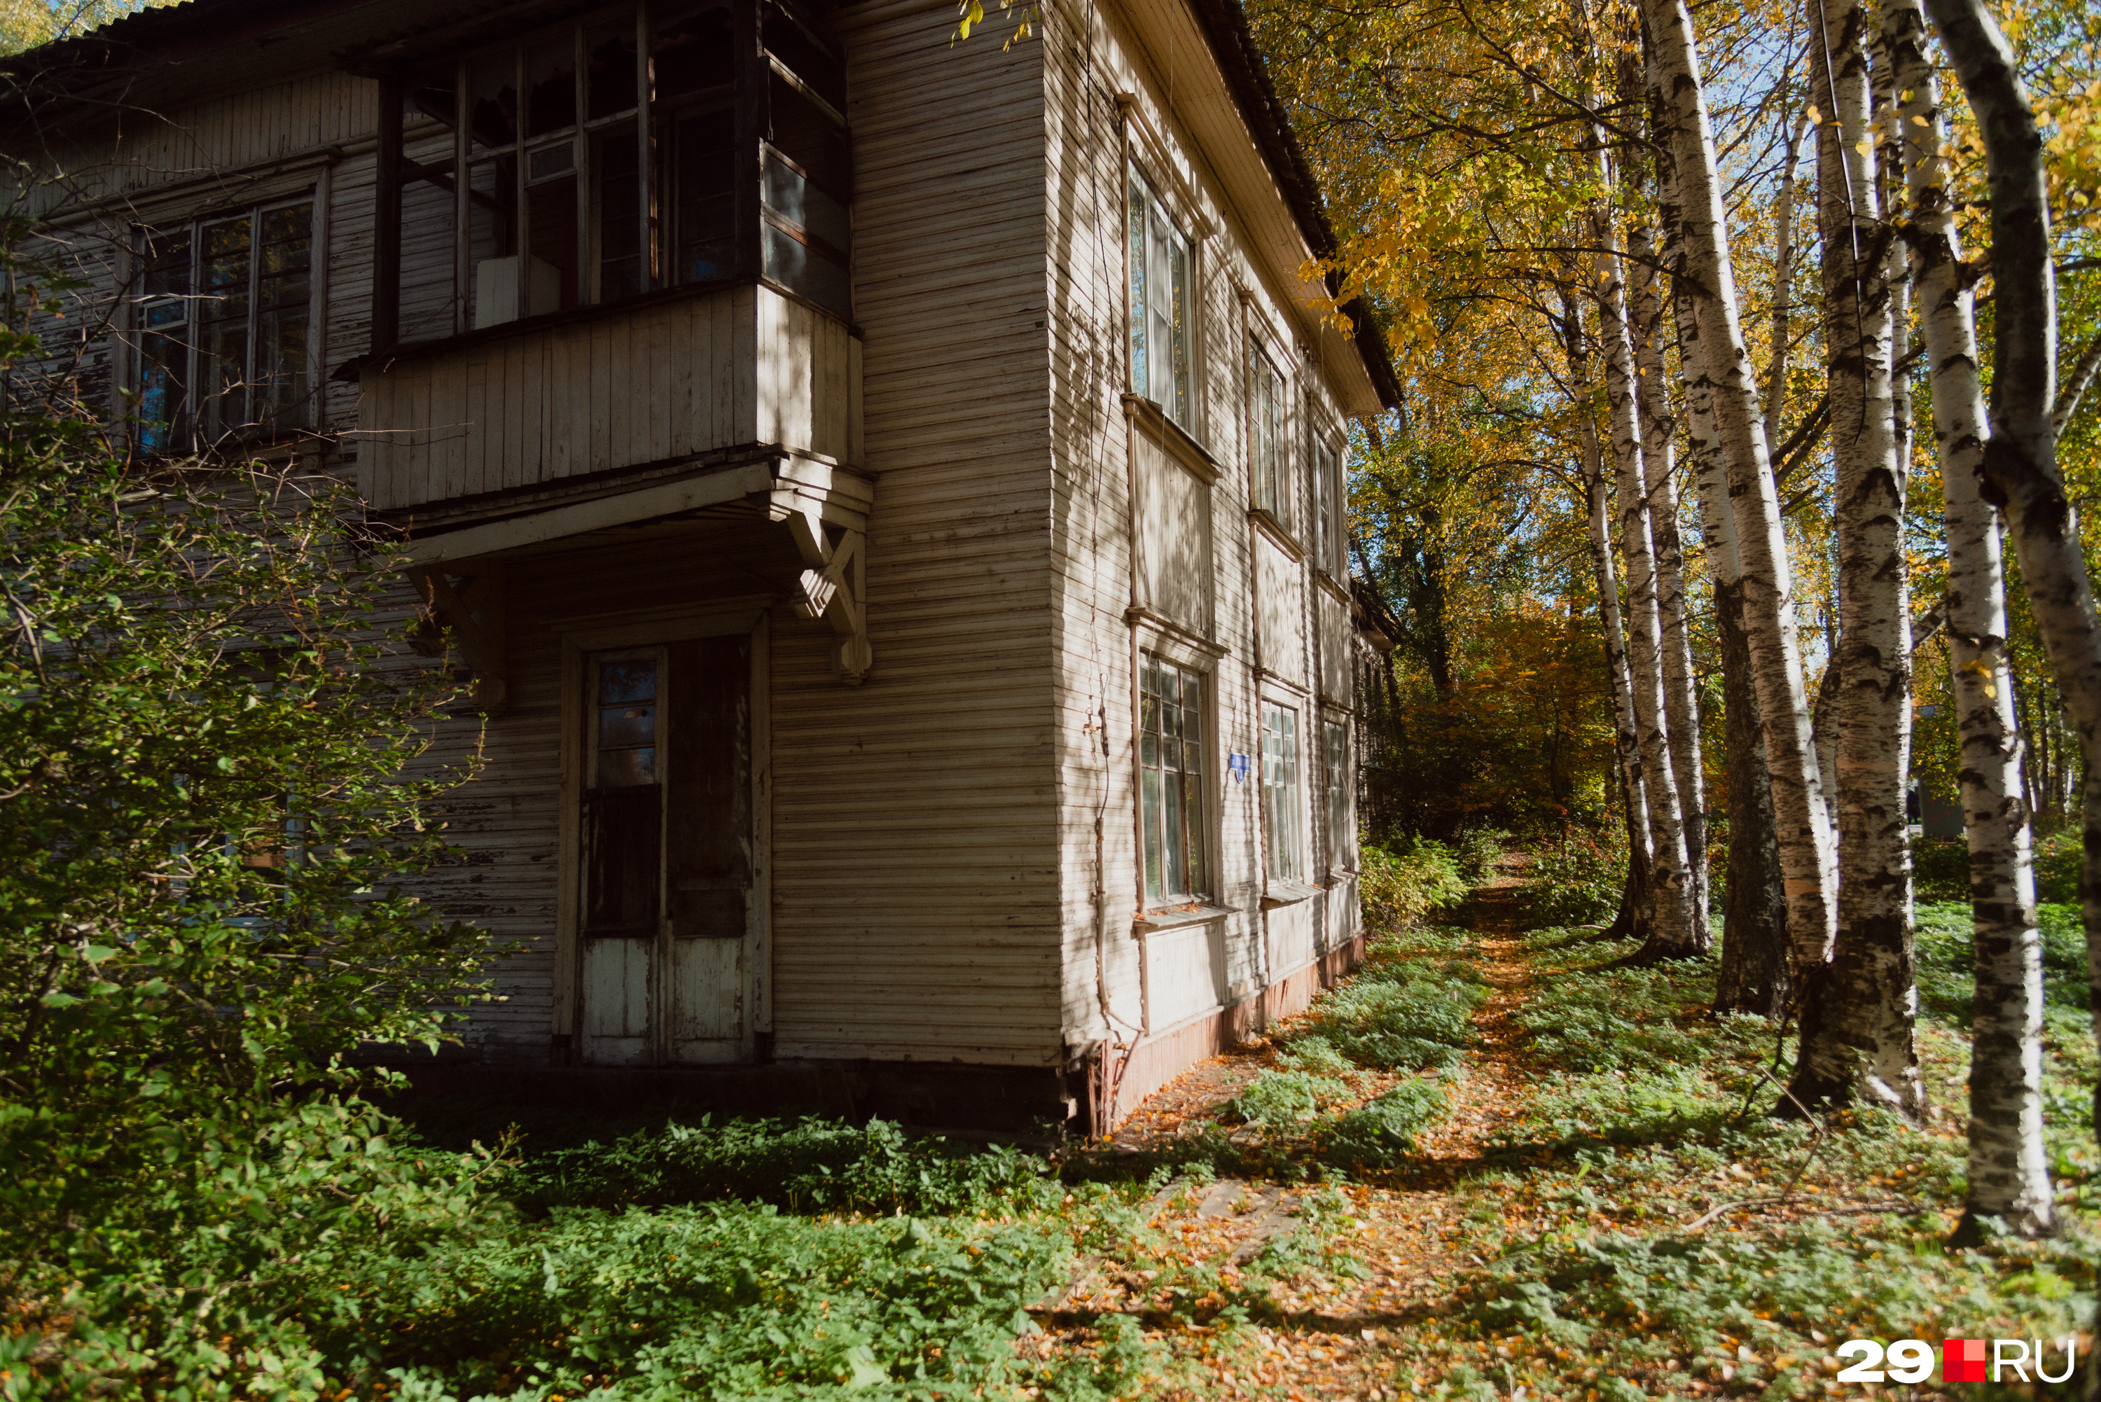
[[[258,349],[263,345],[263,317],[273,311],[284,311],[288,307],[265,307],[263,305],[263,284],[267,280],[263,271],[263,252],[269,244],[263,238],[263,221],[269,214],[282,210],[296,210],[307,206],[305,223],[305,244],[307,244],[307,267],[300,273],[307,282],[307,303],[305,303],[305,326],[298,336],[298,355],[303,362],[303,385],[286,399],[286,410],[265,410],[256,412],[256,391],[258,380]],[[212,355],[204,347],[202,328],[206,317],[202,307],[210,298],[204,292],[204,231],[214,225],[227,225],[235,219],[248,221],[248,280],[244,296],[248,298],[248,317],[244,328],[244,355],[242,355],[242,376],[237,380],[242,391],[242,412],[235,414],[235,422],[219,422],[206,431],[204,406],[206,399],[219,399],[219,395],[202,395],[204,366]],[[321,395],[321,357],[319,347],[324,345],[321,326],[326,317],[326,261],[328,250],[324,244],[326,229],[326,185],[307,185],[271,200],[256,200],[254,204],[219,208],[195,212],[185,219],[160,225],[134,225],[130,238],[130,296],[128,313],[124,317],[124,366],[122,366],[122,387],[128,404],[124,406],[130,416],[128,439],[147,454],[181,454],[208,448],[219,441],[256,441],[273,439],[292,433],[300,433],[315,427],[317,399]],[[181,235],[189,246],[189,269],[185,273],[183,292],[153,292],[153,240]],[[162,307],[183,307],[183,315],[174,319],[153,322],[155,311]],[[183,404],[176,416],[166,420],[155,420],[164,429],[162,441],[153,441],[149,435],[149,420],[145,418],[147,399],[147,372],[158,362],[149,355],[147,347],[151,338],[170,334],[170,328],[181,328],[183,334]],[[279,343],[279,349],[290,343]],[[294,380],[296,383],[296,380]]]

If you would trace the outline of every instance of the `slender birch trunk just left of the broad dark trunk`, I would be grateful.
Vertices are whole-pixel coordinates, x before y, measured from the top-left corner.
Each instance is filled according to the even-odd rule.
[[[1656,240],[1647,227],[1628,240],[1628,286],[1635,315],[1635,387],[1641,410],[1641,471],[1647,483],[1649,536],[1656,544],[1656,618],[1662,626],[1664,729],[1670,736],[1670,771],[1679,782],[1685,820],[1685,898],[1691,906],[1691,942],[1706,952],[1706,776],[1700,763],[1700,694],[1693,685],[1693,645],[1685,622],[1685,547],[1679,540],[1679,486],[1672,462],[1677,416],[1664,380],[1664,307],[1656,275]]]

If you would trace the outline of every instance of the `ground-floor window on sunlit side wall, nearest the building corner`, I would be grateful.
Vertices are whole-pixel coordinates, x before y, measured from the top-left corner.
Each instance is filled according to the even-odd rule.
[[[1145,654],[1139,677],[1145,898],[1195,898],[1204,862],[1204,677]]]

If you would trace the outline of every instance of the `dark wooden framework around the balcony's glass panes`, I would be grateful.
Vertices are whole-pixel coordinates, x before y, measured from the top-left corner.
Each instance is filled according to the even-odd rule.
[[[660,57],[651,50],[666,25],[683,19],[721,11],[729,21],[729,80],[704,88],[666,92],[666,71],[656,67]],[[775,15],[782,21],[779,44],[773,42]],[[635,90],[630,107],[603,116],[590,114],[590,57],[592,42],[613,42],[622,38],[622,27],[632,23],[635,38]],[[788,36],[786,29],[794,34]],[[536,53],[561,48],[567,36],[571,53],[571,95],[569,120],[553,130],[532,135],[529,107],[529,63]],[[769,46],[773,44],[773,46]],[[800,55],[798,63],[824,65],[826,71],[798,74],[782,57],[782,48]],[[502,57],[511,55],[508,82],[508,135],[502,141],[477,141],[473,118],[477,101],[487,92],[475,90],[475,74],[502,71]],[[805,103],[819,126],[830,130],[826,143],[836,143],[838,170],[828,183],[811,172],[807,160],[790,156],[775,145],[775,97],[792,92]],[[405,122],[410,111],[424,111],[437,122],[441,105],[422,103],[429,95],[452,103],[450,153],[435,164],[420,164],[403,156]],[[502,92],[500,92],[502,95]],[[523,99],[519,95],[525,95]],[[431,55],[420,65],[403,69],[382,80],[380,90],[380,172],[378,172],[378,250],[372,286],[372,353],[403,347],[441,345],[462,336],[506,334],[519,326],[546,324],[557,319],[592,317],[618,307],[641,305],[664,294],[695,294],[731,286],[767,284],[773,290],[805,301],[840,322],[851,324],[851,206],[853,206],[853,164],[851,130],[845,118],[845,59],[821,27],[800,13],[792,0],[727,0],[725,4],[674,4],[670,0],[628,0],[624,4],[599,6],[571,15],[559,23],[544,23],[511,34],[500,40],[454,46]],[[677,141],[681,132],[674,122],[704,114],[729,114],[731,141],[723,170],[729,185],[729,235],[723,242],[731,256],[727,271],[704,277],[683,277],[674,267],[685,252],[681,233],[674,227],[683,217],[685,202],[674,189],[679,179]],[[630,290],[607,294],[605,290],[605,227],[601,177],[597,160],[601,139],[607,132],[632,130],[637,153],[632,179],[637,191],[635,208],[635,259],[637,269]],[[424,132],[433,139],[435,132]],[[529,170],[529,158],[548,153],[567,143],[567,166],[550,168],[544,179]],[[483,198],[475,189],[473,172],[496,166],[508,177],[500,189],[502,208],[498,221],[508,231],[496,248],[506,254],[475,256],[475,204],[490,206],[496,195]],[[769,172],[784,172],[769,183]],[[466,181],[458,174],[469,172]],[[502,179],[502,177],[500,177]],[[622,168],[626,179],[626,168]],[[452,195],[452,292],[450,330],[437,334],[403,336],[403,191],[420,181],[431,181]],[[557,296],[557,307],[542,309],[534,294],[534,210],[529,191],[540,185],[574,181],[567,195],[576,212],[574,235],[574,294]],[[807,208],[815,204],[836,206],[826,225],[836,225],[847,235],[847,246],[817,229],[811,219],[796,217],[769,202],[773,185],[800,183],[803,191],[815,191],[817,202],[805,198]],[[830,185],[830,187],[828,187]],[[771,231],[771,233],[769,233]],[[798,288],[788,273],[775,273],[769,259],[773,242],[798,244],[817,250],[817,261],[834,267],[832,294],[817,288]],[[479,298],[481,263],[511,261],[513,284],[508,305],[513,315],[502,319],[479,319],[475,301]],[[563,269],[567,273],[567,269]],[[559,305],[567,301],[569,305]]]

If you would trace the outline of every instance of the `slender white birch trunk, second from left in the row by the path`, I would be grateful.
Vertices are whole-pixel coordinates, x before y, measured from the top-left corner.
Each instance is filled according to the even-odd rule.
[[[1664,721],[1662,620],[1656,610],[1656,553],[1649,538],[1647,479],[1641,462],[1641,414],[1635,395],[1635,341],[1626,324],[1624,263],[1607,214],[1595,219],[1603,250],[1599,275],[1599,341],[1605,399],[1611,408],[1611,458],[1620,507],[1620,555],[1626,561],[1626,675],[1641,742],[1641,782],[1649,799],[1649,910],[1653,952],[1691,954],[1693,933],[1685,866],[1685,818],[1670,765]]]

